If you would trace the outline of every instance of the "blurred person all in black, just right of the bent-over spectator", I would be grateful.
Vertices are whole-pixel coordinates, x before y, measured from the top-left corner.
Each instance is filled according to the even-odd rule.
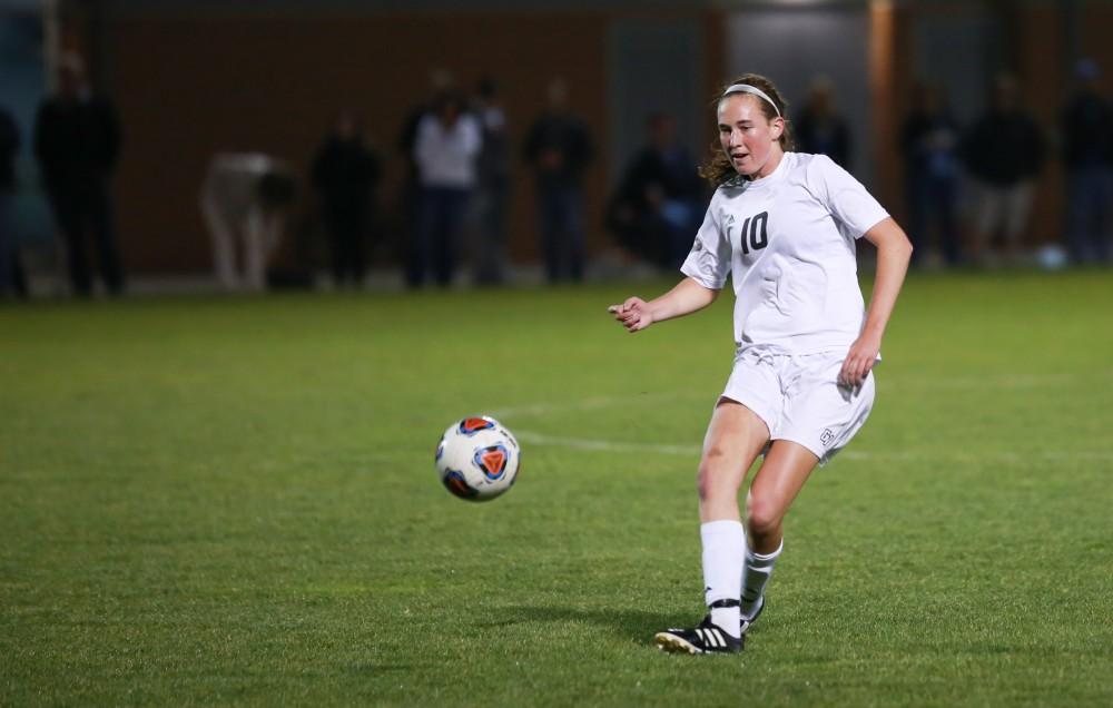
[[[374,189],[380,178],[378,157],[364,140],[359,117],[342,110],[333,130],[313,160],[313,186],[321,196],[328,232],[333,282],[358,287],[367,269]]]

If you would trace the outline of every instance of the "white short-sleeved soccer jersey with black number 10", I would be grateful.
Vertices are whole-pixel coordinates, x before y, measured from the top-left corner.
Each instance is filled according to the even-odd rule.
[[[720,186],[681,272],[735,284],[735,342],[794,354],[846,350],[865,305],[855,240],[888,213],[825,155],[786,153],[768,177]]]

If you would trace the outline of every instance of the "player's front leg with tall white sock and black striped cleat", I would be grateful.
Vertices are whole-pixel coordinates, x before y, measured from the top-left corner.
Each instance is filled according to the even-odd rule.
[[[700,540],[708,617],[695,629],[657,635],[669,651],[739,651],[739,614],[746,537],[738,491],[749,466],[769,441],[765,422],[745,405],[720,399],[708,425],[699,465]]]

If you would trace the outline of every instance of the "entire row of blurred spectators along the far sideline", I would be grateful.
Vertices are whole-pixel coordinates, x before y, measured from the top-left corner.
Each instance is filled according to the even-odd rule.
[[[995,267],[1032,262],[1023,248],[1033,198],[1050,159],[1064,174],[1062,236],[1036,254],[1042,265],[1109,264],[1113,209],[1113,107],[1100,90],[1100,68],[1082,60],[1055,125],[1034,117],[1024,91],[999,76],[985,111],[963,125],[940,85],[914,87],[899,150],[906,204],[889,205],[916,245],[922,267]],[[384,160],[357,111],[341,109],[307,174],[256,153],[213,156],[199,210],[209,232],[214,274],[228,291],[262,291],[284,235],[292,230],[295,194],[312,193],[313,233],[324,236],[324,264],[335,287],[368,282],[374,252],[396,264],[411,288],[449,286],[466,264],[471,282],[500,285],[512,277],[508,253],[511,179],[520,160],[532,176],[535,238],[550,283],[578,282],[588,266],[584,179],[598,169],[598,138],[572,108],[569,87],[553,79],[546,107],[515,145],[499,86],[484,78],[471,90],[435,71],[426,100],[408,111],[395,148],[405,163],[401,197],[384,207]],[[796,149],[830,156],[855,171],[851,130],[838,90],[817,79],[791,116]],[[89,296],[99,276],[110,295],[125,292],[117,246],[111,177],[120,159],[119,119],[107,97],[86,80],[80,57],[66,55],[57,90],[39,107],[33,153],[65,256],[70,292]],[[27,296],[18,235],[6,210],[16,189],[13,159],[21,136],[0,106],[0,297]],[[706,156],[692,155],[677,120],[657,111],[644,122],[643,146],[623,166],[603,209],[613,247],[627,262],[674,269],[683,260],[710,198],[698,176]],[[387,233],[390,232],[390,233]]]

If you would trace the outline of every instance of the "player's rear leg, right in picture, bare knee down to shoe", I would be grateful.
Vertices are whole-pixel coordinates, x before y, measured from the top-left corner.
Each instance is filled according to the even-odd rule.
[[[746,496],[747,544],[739,608],[743,630],[765,606],[765,589],[784,545],[785,514],[818,462],[819,458],[804,445],[775,440],[750,483]]]

